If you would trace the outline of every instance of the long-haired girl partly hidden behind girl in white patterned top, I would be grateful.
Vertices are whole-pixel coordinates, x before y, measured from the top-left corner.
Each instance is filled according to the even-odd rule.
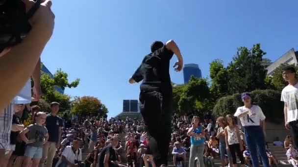
[[[227,126],[226,124],[226,120],[224,117],[218,117],[216,122],[218,123],[218,125],[220,126],[218,128],[218,132],[216,137],[219,139],[219,143],[220,143],[220,155],[221,155],[221,163],[222,163],[222,167],[226,166],[226,162],[225,162],[225,155],[227,155],[227,160],[229,164],[232,164],[231,161],[231,153],[230,151],[226,150],[226,143],[225,143],[225,135],[224,135],[224,128]]]

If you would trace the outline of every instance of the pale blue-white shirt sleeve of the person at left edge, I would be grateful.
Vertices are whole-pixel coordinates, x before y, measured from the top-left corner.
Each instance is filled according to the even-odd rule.
[[[19,94],[14,98],[15,104],[31,103],[31,80],[29,79]]]

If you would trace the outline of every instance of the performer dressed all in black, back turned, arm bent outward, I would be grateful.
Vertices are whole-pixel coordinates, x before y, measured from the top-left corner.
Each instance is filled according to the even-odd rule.
[[[157,166],[168,163],[169,142],[171,140],[171,121],[173,111],[173,92],[169,73],[170,60],[176,55],[175,71],[181,71],[183,59],[173,40],[163,44],[151,44],[151,53],[145,56],[141,65],[129,79],[129,83],[140,85],[140,110],[149,133],[149,149]]]

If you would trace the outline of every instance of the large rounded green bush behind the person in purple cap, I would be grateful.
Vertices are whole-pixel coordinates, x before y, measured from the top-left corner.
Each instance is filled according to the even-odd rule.
[[[280,101],[280,91],[254,90],[250,92],[252,104],[259,105],[266,116],[266,120],[272,123],[280,123],[284,119],[283,102]],[[233,94],[220,98],[213,108],[215,117],[234,114],[239,106],[243,105],[241,94]]]

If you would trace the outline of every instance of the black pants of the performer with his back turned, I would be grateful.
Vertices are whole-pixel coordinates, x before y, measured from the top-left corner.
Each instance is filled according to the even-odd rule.
[[[156,88],[141,90],[140,110],[149,133],[148,154],[154,156],[157,166],[168,164],[172,108],[172,91],[162,93]]]

